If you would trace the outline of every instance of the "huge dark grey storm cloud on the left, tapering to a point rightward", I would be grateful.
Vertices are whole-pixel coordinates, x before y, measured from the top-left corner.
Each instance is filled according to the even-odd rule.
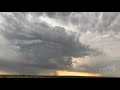
[[[34,20],[36,15],[0,13],[0,69],[24,74],[43,69],[72,69],[72,57],[98,53],[79,41],[80,33],[53,27],[40,18]]]

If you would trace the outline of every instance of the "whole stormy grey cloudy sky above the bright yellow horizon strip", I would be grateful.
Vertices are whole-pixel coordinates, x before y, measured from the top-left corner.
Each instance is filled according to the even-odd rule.
[[[119,12],[0,12],[0,74],[120,77]]]

